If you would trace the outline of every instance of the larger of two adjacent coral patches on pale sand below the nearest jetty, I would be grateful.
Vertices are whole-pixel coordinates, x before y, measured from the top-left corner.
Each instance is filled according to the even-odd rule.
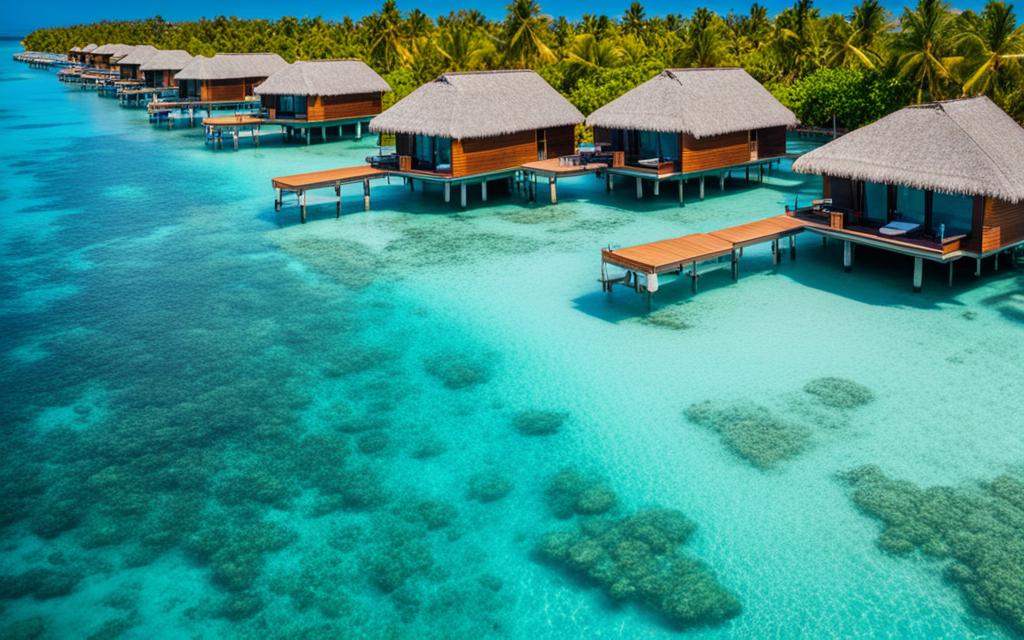
[[[691,404],[686,418],[718,433],[734,454],[760,469],[798,456],[810,443],[810,429],[753,402],[706,400]]]

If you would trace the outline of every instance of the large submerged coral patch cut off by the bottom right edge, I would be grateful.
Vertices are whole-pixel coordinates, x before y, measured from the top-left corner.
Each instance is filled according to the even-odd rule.
[[[1024,478],[922,488],[873,465],[842,477],[857,507],[882,520],[882,549],[946,561],[946,578],[976,610],[1024,633]]]

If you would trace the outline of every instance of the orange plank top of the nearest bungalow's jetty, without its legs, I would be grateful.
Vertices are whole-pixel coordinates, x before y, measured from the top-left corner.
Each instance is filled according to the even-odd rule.
[[[709,233],[690,233],[624,249],[605,249],[601,251],[601,260],[643,273],[679,271],[687,265],[731,255],[743,247],[775,243],[803,231],[805,226],[806,223],[798,218],[772,216]],[[777,253],[777,246],[773,249]]]

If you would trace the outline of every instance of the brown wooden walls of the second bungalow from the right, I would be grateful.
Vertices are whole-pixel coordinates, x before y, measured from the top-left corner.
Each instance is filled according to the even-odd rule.
[[[594,128],[594,140],[611,145],[614,139],[612,129]],[[620,130],[623,139],[639,135],[636,130]],[[623,148],[617,148],[622,146]],[[766,127],[734,131],[721,135],[694,137],[688,133],[679,134],[677,139],[679,157],[673,158],[672,166],[662,167],[663,172],[683,171],[686,173],[712,171],[758,160],[768,160],[785,155],[785,127]],[[627,151],[625,144],[612,145],[612,151]],[[627,154],[627,164],[630,164]],[[633,159],[637,160],[637,159]]]

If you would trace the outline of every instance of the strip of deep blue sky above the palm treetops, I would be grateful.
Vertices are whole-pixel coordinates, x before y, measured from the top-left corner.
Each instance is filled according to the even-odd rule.
[[[90,2],[88,0],[48,0],[27,2],[26,0],[3,0],[0,2],[0,35],[24,36],[40,27],[62,27],[92,23],[101,19],[134,19],[162,15],[168,20],[188,20],[218,14],[239,17],[274,18],[281,15],[315,16],[340,19],[346,14],[361,17],[380,7],[383,0],[341,1],[338,0],[247,0],[245,3],[210,3],[200,0],[174,0],[173,2]],[[816,0],[815,6],[823,13],[849,12],[857,0]],[[907,2],[915,0],[883,0],[883,4],[894,13],[900,13]],[[664,15],[675,12],[689,14],[698,6],[708,6],[721,14],[729,10],[746,12],[752,0],[647,0],[643,2],[648,15]],[[505,14],[509,0],[398,0],[402,11],[419,8],[428,15],[436,16],[454,9],[475,8],[487,17],[499,18]],[[630,0],[541,0],[545,13],[564,15],[570,19],[583,13],[605,13],[609,16],[622,15]],[[793,4],[793,0],[761,0],[770,13],[781,11]],[[957,0],[957,8],[979,8],[983,0]]]

